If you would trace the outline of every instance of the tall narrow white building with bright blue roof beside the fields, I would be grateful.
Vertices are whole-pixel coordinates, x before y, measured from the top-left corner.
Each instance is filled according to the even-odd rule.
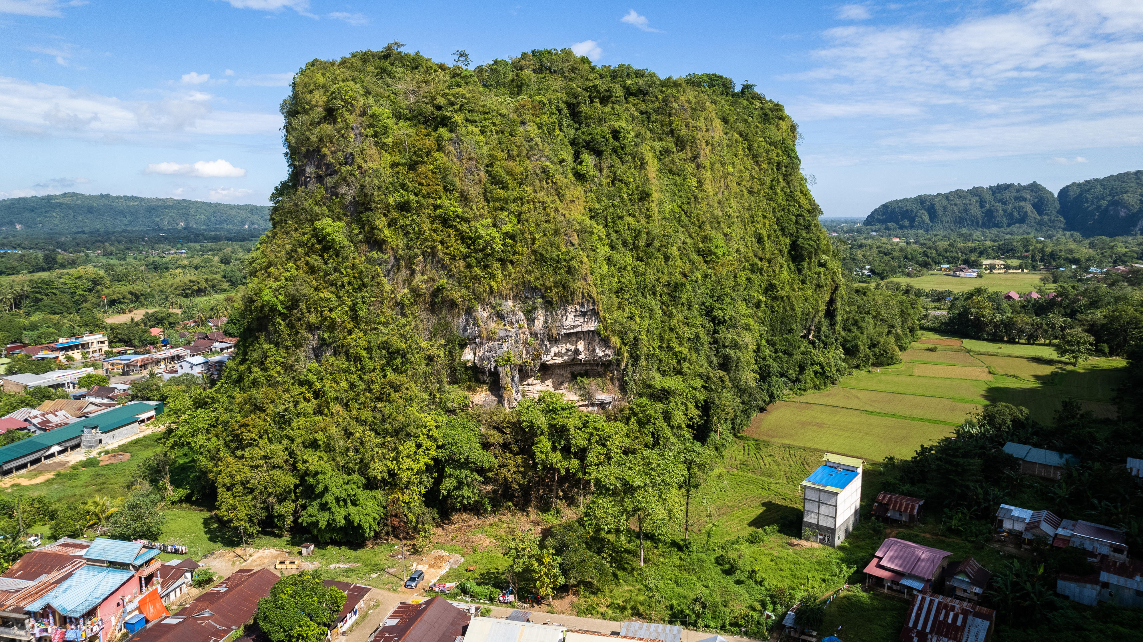
[[[802,490],[802,539],[837,548],[861,517],[861,473],[865,460],[826,452]]]

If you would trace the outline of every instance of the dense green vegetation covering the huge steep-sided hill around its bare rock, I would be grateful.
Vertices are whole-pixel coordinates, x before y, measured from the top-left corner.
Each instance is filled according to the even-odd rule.
[[[282,113],[290,172],[237,356],[173,442],[232,525],[360,540],[423,524],[445,414],[467,404],[456,320],[479,304],[593,303],[626,451],[733,433],[846,369],[797,127],[727,78],[567,49],[470,71],[393,43],[306,64]],[[581,424],[528,424],[552,425],[573,432],[526,435],[549,439],[545,478],[581,474]]]

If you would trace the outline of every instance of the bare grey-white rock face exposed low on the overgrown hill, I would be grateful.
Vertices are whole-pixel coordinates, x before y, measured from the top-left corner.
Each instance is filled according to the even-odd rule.
[[[562,393],[591,410],[617,399],[614,385],[573,385],[577,377],[614,380],[617,371],[615,348],[599,332],[594,303],[545,307],[530,298],[498,302],[466,312],[458,326],[467,340],[462,361],[488,379],[488,393],[474,395],[475,404],[513,408],[542,391]]]

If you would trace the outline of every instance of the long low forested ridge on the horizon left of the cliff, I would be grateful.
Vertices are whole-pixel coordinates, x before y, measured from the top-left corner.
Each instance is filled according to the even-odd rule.
[[[69,192],[0,200],[0,233],[267,230],[270,208]]]

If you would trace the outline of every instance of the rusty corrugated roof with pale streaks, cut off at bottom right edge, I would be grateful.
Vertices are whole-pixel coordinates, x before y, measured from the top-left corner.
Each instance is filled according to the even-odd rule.
[[[918,593],[905,612],[901,642],[985,642],[996,611],[968,602]]]

